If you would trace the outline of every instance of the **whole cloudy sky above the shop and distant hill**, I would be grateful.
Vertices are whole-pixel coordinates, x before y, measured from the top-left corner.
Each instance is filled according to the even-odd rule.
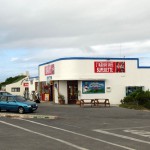
[[[150,0],[0,0],[0,82],[62,57],[150,66]]]

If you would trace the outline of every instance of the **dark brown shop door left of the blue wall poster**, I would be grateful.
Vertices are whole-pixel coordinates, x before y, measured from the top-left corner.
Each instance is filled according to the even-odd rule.
[[[68,104],[76,104],[78,99],[78,81],[67,82]]]

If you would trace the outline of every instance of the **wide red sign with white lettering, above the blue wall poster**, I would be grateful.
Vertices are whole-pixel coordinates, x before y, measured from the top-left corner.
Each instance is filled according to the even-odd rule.
[[[95,73],[124,73],[125,62],[96,61],[94,62]]]

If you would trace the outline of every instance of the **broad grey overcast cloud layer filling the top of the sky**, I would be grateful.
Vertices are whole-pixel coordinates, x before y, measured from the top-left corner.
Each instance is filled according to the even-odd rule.
[[[71,48],[147,40],[148,0],[1,0],[2,48]]]

